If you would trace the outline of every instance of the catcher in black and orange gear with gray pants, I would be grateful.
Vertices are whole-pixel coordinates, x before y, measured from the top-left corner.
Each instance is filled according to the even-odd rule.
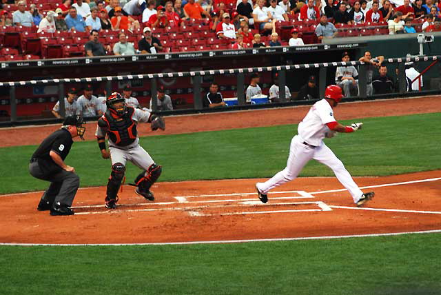
[[[150,187],[161,175],[162,167],[154,163],[148,154],[139,145],[136,125],[139,122],[151,123],[152,130],[165,130],[165,122],[160,116],[148,111],[127,107],[124,97],[118,92],[113,92],[106,101],[107,111],[98,120],[96,138],[103,159],[112,160],[112,172],[107,183],[105,207],[116,209],[118,191],[124,179],[125,163],[131,161],[140,167],[143,172],[135,179],[135,192],[149,201],[154,201]],[[107,134],[109,151],[105,147]]]

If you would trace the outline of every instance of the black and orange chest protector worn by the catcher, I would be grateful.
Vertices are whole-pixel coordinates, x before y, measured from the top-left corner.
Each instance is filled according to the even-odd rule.
[[[114,118],[108,110],[105,112],[105,119],[109,122],[107,136],[116,145],[126,146],[135,141],[138,132],[136,132],[136,121],[132,120],[134,111],[134,108],[127,108],[127,112],[119,118]]]

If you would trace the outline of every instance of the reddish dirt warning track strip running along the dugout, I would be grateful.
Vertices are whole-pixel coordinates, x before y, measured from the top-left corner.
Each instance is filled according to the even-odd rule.
[[[297,124],[302,120],[310,106],[276,108],[269,110],[249,110],[241,112],[221,112],[166,118],[165,131],[152,132],[147,125],[139,129],[140,136],[159,134],[181,134],[212,130],[251,128],[271,125]],[[424,96],[411,99],[390,99],[356,103],[340,103],[335,109],[336,119],[360,119],[377,116],[401,116],[406,114],[425,114],[441,112],[440,96]],[[0,129],[0,148],[15,145],[35,145],[45,136],[59,128],[59,125],[45,125]],[[94,140],[96,123],[86,125],[85,139]],[[38,130],[38,131],[36,131]]]

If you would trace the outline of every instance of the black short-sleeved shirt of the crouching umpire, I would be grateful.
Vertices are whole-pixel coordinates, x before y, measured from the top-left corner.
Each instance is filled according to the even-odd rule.
[[[64,161],[69,154],[72,143],[74,143],[74,141],[72,140],[72,135],[69,130],[61,128],[43,140],[39,148],[32,154],[31,162],[37,160],[41,171],[45,174],[61,172],[62,168],[52,160],[49,153],[53,150],[59,154]]]

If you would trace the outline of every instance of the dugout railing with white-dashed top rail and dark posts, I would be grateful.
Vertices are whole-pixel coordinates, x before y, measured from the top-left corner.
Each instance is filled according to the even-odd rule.
[[[17,97],[17,92],[20,88],[35,88],[38,86],[52,85],[57,88],[57,97],[60,102],[60,114],[64,116],[64,97],[66,85],[71,85],[72,83],[101,83],[104,84],[107,93],[111,93],[113,82],[130,82],[130,81],[149,81],[150,84],[150,96],[152,99],[152,110],[158,112],[162,115],[171,114],[184,114],[184,113],[194,113],[194,112],[218,112],[218,111],[229,111],[229,110],[244,110],[249,108],[275,108],[287,105],[303,105],[312,104],[314,101],[287,101],[285,93],[285,85],[287,85],[287,76],[289,79],[297,77],[298,79],[304,79],[306,81],[307,75],[314,73],[318,77],[318,87],[320,92],[320,97],[325,93],[325,88],[327,85],[334,82],[335,69],[340,65],[354,65],[358,68],[359,77],[359,94],[358,96],[351,96],[346,101],[356,101],[356,100],[367,100],[367,99],[383,99],[396,96],[414,96],[414,95],[424,95],[424,94],[438,94],[441,93],[441,81],[440,79],[440,64],[433,67],[433,63],[438,61],[441,56],[422,56],[422,57],[403,57],[403,58],[393,58],[386,59],[384,65],[387,65],[389,72],[391,70],[398,70],[397,74],[397,85],[398,91],[391,94],[374,94],[373,96],[367,97],[367,64],[360,61],[349,61],[345,62],[329,62],[329,63],[308,63],[308,64],[296,64],[296,65],[276,65],[271,67],[257,67],[257,68],[231,68],[225,70],[201,70],[201,71],[190,71],[190,72],[169,72],[169,73],[156,73],[156,74],[136,74],[136,75],[119,75],[110,77],[87,77],[87,78],[74,78],[74,79],[41,79],[41,80],[31,80],[31,81],[11,81],[11,82],[0,82],[0,89],[3,92],[9,94],[10,108],[7,117],[3,116],[3,121],[0,121],[1,126],[10,125],[30,125],[30,124],[43,124],[43,123],[57,123],[61,119],[22,119],[17,116],[17,106],[19,105],[19,100],[23,101],[25,98]],[[432,78],[435,83],[429,83],[431,85],[425,86],[421,91],[407,91],[407,79],[405,76],[406,63],[419,63],[419,72],[424,71],[427,65],[431,65]],[[245,101],[245,90],[248,81],[246,77],[252,73],[269,74],[270,77],[274,77],[277,74],[278,85],[279,85],[279,96],[280,101],[278,103],[263,103],[263,104],[248,104]],[[334,73],[334,74],[333,74]],[[202,84],[205,81],[205,77],[212,77],[213,79],[208,79],[207,81],[216,81],[216,77],[222,77],[224,75],[229,75],[229,77],[234,77],[236,81],[236,87],[234,93],[237,97],[237,105],[226,107],[226,108],[216,108],[216,109],[204,109],[203,108],[203,91]],[[375,73],[373,74],[375,75]],[[306,76],[306,77],[305,77]],[[391,75],[395,76],[395,72]],[[156,105],[156,94],[158,90],[158,79],[183,79],[190,78],[192,88],[192,106],[189,108],[173,111],[158,111]],[[204,80],[203,80],[204,79]],[[438,80],[437,80],[438,79]],[[438,81],[438,84],[437,84]],[[205,81],[206,82],[206,81]],[[433,85],[432,85],[433,84]],[[426,81],[427,85],[427,81]],[[234,87],[233,87],[234,88]],[[54,102],[55,103],[55,102]],[[95,117],[90,117],[88,120],[94,120]]]

